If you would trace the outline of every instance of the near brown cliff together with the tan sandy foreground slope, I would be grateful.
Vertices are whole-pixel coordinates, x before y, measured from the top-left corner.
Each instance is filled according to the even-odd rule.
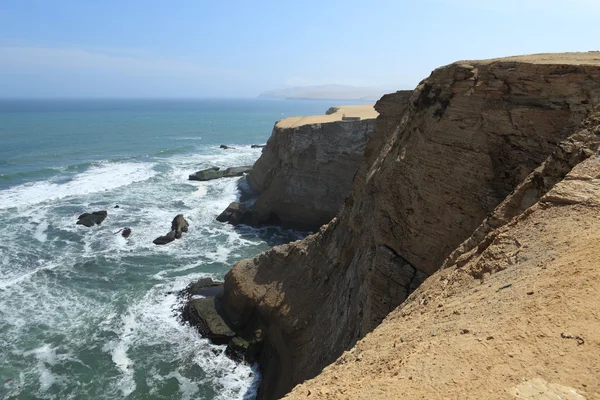
[[[300,387],[294,396],[343,398],[344,392],[338,392],[343,389],[349,390],[348,398],[398,398],[402,393],[420,394],[410,388],[421,388],[423,398],[446,394],[462,398],[469,395],[468,388],[480,396],[470,398],[487,398],[481,396],[484,390],[493,398],[536,377],[549,385],[577,390],[585,384],[587,392],[597,393],[597,383],[590,378],[598,376],[597,370],[581,372],[580,384],[567,379],[573,371],[559,368],[557,360],[579,359],[590,366],[591,360],[598,360],[598,353],[582,351],[577,340],[556,338],[557,332],[581,333],[591,339],[592,347],[585,349],[598,349],[594,333],[598,309],[587,306],[597,299],[591,290],[598,276],[590,247],[598,233],[597,216],[594,207],[581,203],[594,201],[595,189],[589,186],[593,179],[574,179],[574,186],[554,189],[552,181],[563,184],[568,180],[561,181],[560,174],[548,171],[548,182],[531,186],[533,192],[518,191],[522,197],[513,201],[512,209],[535,204],[540,196],[543,201],[544,196],[556,195],[569,199],[567,203],[546,197],[534,213],[523,214],[527,215],[524,222],[503,220],[489,229],[481,228],[519,184],[533,179],[531,173],[559,144],[571,155],[564,162],[557,158],[556,168],[568,172],[569,162],[577,162],[577,152],[569,153],[566,141],[600,103],[596,57],[586,53],[463,61],[435,70],[408,102],[384,96],[376,105],[382,109],[371,135],[377,142],[367,143],[365,162],[339,217],[303,241],[239,262],[226,277],[223,304],[228,317],[240,327],[259,323],[266,332],[259,398],[281,397],[294,385],[318,375],[377,327],[478,227],[485,238],[493,229],[514,232],[507,233],[506,241],[495,238],[483,242],[484,246],[477,245],[475,238],[455,254],[462,269],[446,265],[401,311],[386,319],[378,328],[381,337],[375,331],[361,342],[372,347],[370,352],[356,353],[354,367],[348,367],[343,376],[346,384],[336,386],[334,380],[341,379],[336,378],[338,372],[328,375],[335,368],[341,371],[346,365],[342,362],[318,378],[322,383],[316,382],[315,387],[321,392],[302,392]],[[586,149],[594,151],[593,145],[584,143],[582,159],[589,156]],[[572,195],[557,192],[560,187]],[[496,214],[512,218],[510,212]],[[573,221],[578,221],[585,234]],[[566,256],[571,249],[576,253],[572,259]],[[571,261],[575,264],[567,264]],[[494,269],[499,262],[502,271]],[[585,279],[578,281],[577,273],[565,274],[566,265],[578,268]],[[490,273],[484,285],[492,286],[481,298],[481,278]],[[554,285],[557,278],[562,281]],[[507,283],[512,286],[500,290]],[[558,297],[527,295],[532,290],[556,292]],[[423,293],[428,295],[423,297]],[[451,311],[448,323],[456,321],[447,331],[446,309]],[[590,320],[596,322],[586,328],[584,322]],[[465,332],[456,333],[457,329]],[[528,336],[529,331],[537,336]],[[402,337],[393,336],[395,332],[406,332],[408,342],[403,344]],[[521,358],[518,350],[523,337]],[[382,344],[377,347],[377,343]],[[465,346],[473,343],[480,345],[461,356]],[[573,352],[567,353],[558,343],[577,350],[569,348]],[[511,358],[509,351],[514,365],[511,360],[492,362],[501,356]],[[522,369],[511,375],[515,365]],[[402,378],[398,371],[404,371]],[[504,378],[495,381],[497,376]],[[402,384],[397,385],[400,379]]]

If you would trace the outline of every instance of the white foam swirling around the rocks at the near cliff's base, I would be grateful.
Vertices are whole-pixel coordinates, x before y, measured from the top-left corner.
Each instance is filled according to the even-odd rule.
[[[115,330],[118,339],[108,344],[105,351],[111,352],[113,362],[121,372],[119,389],[123,396],[135,391],[133,376],[138,368],[138,360],[132,360],[130,354],[138,346],[168,345],[172,351],[169,357],[171,360],[175,357],[180,365],[165,375],[155,371],[152,379],[148,379],[151,388],[160,381],[175,378],[179,382],[182,398],[193,398],[199,385],[206,384],[219,393],[219,399],[244,398],[248,388],[257,379],[256,371],[230,360],[224,354],[224,346],[215,346],[202,339],[194,328],[182,325],[173,311],[177,305],[174,292],[183,289],[194,279],[209,276],[205,273],[190,274],[156,285],[121,317],[119,327]],[[157,354],[157,357],[161,355]],[[141,362],[153,364],[151,359]],[[191,366],[190,363],[197,364],[207,377],[198,380],[186,377],[184,371]],[[148,365],[140,365],[139,368],[149,369]]]

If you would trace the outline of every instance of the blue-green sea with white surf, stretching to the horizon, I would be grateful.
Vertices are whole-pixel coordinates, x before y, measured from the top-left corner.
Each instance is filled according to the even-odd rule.
[[[177,291],[303,234],[218,223],[237,178],[187,177],[252,164],[276,120],[335,103],[0,100],[0,398],[253,398],[257,368],[182,325]],[[179,213],[189,232],[152,244]]]

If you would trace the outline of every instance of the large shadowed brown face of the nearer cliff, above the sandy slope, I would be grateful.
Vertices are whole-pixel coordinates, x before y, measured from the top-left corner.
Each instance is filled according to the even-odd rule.
[[[384,97],[373,134],[383,144],[367,145],[339,218],[226,277],[229,318],[266,332],[262,398],[373,330],[574,132],[600,101],[600,61],[589,64],[460,62],[408,103]]]

